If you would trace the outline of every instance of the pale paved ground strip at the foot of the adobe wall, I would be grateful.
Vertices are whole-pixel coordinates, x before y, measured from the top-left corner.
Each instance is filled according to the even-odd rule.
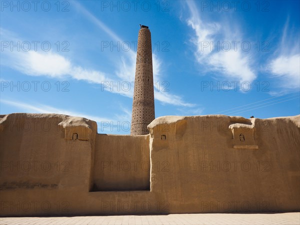
[[[300,224],[300,212],[275,214],[169,214],[73,217],[2,217],[0,224]]]

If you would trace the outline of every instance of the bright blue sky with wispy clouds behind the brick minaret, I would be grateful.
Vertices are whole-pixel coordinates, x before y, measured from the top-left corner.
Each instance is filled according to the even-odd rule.
[[[0,3],[1,114],[82,116],[129,134],[140,23],[155,117],[300,113],[298,0]]]

